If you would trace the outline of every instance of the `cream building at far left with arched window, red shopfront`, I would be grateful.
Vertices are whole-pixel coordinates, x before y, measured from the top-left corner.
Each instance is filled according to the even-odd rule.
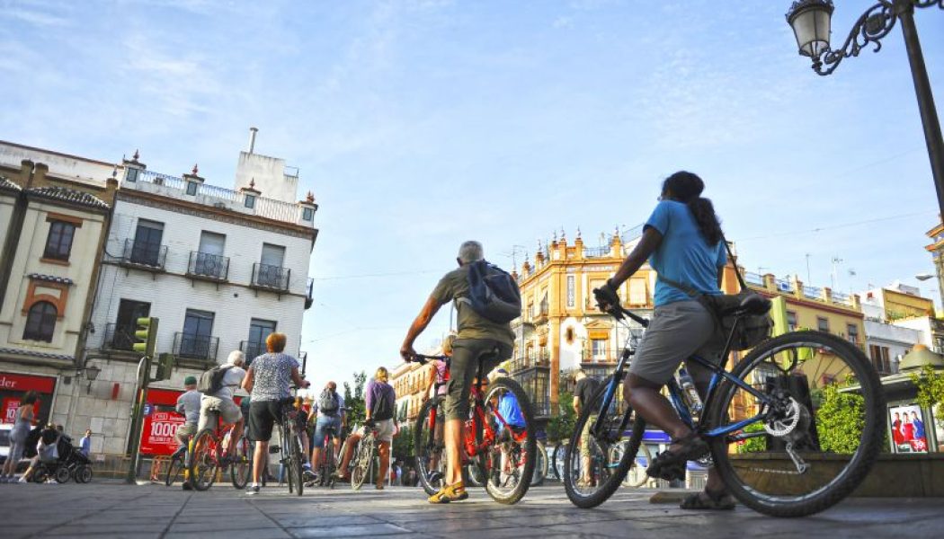
[[[118,182],[114,165],[0,142],[0,422],[38,391],[38,422],[65,425]]]

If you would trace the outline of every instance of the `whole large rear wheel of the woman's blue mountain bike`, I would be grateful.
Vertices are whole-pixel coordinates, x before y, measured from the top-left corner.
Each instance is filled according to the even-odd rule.
[[[884,440],[885,398],[857,346],[795,331],[755,347],[732,374],[755,393],[726,380],[706,417],[710,427],[760,418],[711,441],[717,472],[744,505],[773,516],[814,514],[865,479]]]

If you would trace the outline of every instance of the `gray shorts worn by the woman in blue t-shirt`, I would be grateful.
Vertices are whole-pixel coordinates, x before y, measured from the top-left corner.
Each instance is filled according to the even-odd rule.
[[[711,371],[687,361],[697,354],[720,362],[724,343],[716,335],[715,318],[698,301],[677,301],[656,307],[649,328],[630,364],[630,372],[652,383],[665,384],[685,361],[688,373],[700,387],[707,386]]]

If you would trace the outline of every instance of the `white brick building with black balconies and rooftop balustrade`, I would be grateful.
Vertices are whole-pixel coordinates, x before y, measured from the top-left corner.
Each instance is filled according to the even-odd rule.
[[[172,402],[184,377],[231,350],[250,361],[264,353],[273,331],[297,356],[318,232],[313,196],[297,199],[297,172],[286,173],[282,160],[242,152],[236,183],[249,179],[237,190],[205,184],[195,166],[182,177],[148,171],[137,153],[124,165],[91,319],[88,362],[101,373],[73,418],[102,433],[93,452],[112,454],[129,440],[135,320],[159,318],[156,352],[176,357],[173,378],[152,384],[156,404]]]

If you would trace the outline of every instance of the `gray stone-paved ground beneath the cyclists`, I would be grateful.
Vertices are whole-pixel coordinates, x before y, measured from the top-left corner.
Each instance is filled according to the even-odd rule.
[[[942,537],[941,498],[858,498],[823,514],[776,519],[744,507],[682,511],[649,503],[651,491],[622,489],[597,509],[580,510],[560,486],[532,488],[515,506],[473,490],[468,501],[430,506],[418,489],[378,492],[262,489],[245,497],[229,485],[207,493],[163,485],[0,484],[0,536],[14,537]],[[370,487],[370,485],[365,485]]]

